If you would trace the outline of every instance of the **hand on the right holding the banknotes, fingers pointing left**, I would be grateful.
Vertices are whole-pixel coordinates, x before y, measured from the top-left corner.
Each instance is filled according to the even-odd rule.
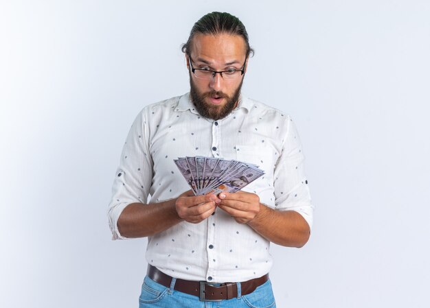
[[[239,224],[247,224],[260,212],[260,198],[255,193],[238,191],[220,193],[218,207],[229,213]]]

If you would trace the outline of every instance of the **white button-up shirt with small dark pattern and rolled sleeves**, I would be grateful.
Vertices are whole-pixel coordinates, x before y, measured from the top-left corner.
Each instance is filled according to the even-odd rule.
[[[291,117],[241,97],[224,119],[201,117],[189,94],[143,108],[120,159],[109,204],[113,239],[124,239],[117,221],[134,202],[176,198],[190,187],[174,159],[209,156],[259,165],[265,174],[242,191],[278,211],[297,211],[312,226],[313,206],[304,156]],[[149,196],[150,195],[150,198]],[[180,222],[148,237],[146,259],[162,272],[193,281],[247,281],[269,272],[269,241],[221,209],[199,224]]]

